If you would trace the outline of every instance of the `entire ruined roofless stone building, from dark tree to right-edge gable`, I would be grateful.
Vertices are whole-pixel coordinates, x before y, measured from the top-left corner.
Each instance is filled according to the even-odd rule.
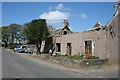
[[[118,18],[120,17],[120,3],[115,6],[115,13],[112,19],[103,26],[97,22],[91,30],[84,32],[72,32],[69,29],[69,22],[64,20],[61,29],[54,30],[51,26],[49,38],[44,41],[43,52],[62,55],[83,55],[85,58],[97,57],[109,59],[111,62],[118,62]]]

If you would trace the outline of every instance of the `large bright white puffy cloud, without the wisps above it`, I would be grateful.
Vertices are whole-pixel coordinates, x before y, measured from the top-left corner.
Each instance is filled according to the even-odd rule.
[[[70,13],[61,11],[49,11],[40,15],[40,19],[46,19],[48,23],[57,23],[63,19],[68,19]]]

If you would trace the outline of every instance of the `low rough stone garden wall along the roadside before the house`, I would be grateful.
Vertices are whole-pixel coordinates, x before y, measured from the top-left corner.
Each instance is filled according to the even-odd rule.
[[[73,59],[68,59],[63,57],[53,57],[53,56],[50,56],[47,59],[67,67],[81,67],[81,68],[93,67],[93,66],[100,67],[107,64],[108,62],[108,59],[73,60]]]

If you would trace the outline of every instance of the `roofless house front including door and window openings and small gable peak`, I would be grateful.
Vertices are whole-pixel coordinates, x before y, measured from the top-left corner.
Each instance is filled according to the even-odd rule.
[[[55,51],[61,54],[83,54],[86,57],[99,56],[106,58],[105,29],[97,22],[94,29],[56,36]],[[60,51],[57,51],[57,44],[60,44]]]

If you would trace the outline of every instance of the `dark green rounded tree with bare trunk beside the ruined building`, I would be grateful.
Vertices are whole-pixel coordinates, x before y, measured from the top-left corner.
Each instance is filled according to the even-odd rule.
[[[35,43],[37,55],[40,52],[42,41],[49,35],[45,19],[35,19],[26,24],[24,33],[30,43]]]

